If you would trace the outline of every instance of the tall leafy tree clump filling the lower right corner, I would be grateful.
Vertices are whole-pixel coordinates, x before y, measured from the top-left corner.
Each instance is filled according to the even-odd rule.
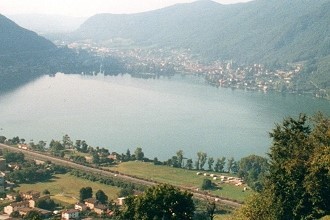
[[[271,132],[265,187],[242,208],[244,219],[319,219],[330,213],[330,120],[287,118]]]

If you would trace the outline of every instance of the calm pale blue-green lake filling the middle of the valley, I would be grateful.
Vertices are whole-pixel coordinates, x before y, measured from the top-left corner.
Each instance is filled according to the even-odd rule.
[[[268,132],[286,116],[323,111],[330,103],[298,95],[215,88],[202,79],[137,79],[124,76],[44,76],[0,94],[0,135],[27,142],[86,140],[125,153],[142,147],[166,160],[183,150],[195,160],[264,156]]]

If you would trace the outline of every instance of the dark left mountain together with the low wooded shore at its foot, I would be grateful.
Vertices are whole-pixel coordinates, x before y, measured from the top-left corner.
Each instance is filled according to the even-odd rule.
[[[58,48],[3,15],[0,15],[0,30],[0,91],[20,86],[44,74],[99,70],[98,57],[83,51],[76,53],[68,48]],[[103,63],[105,70],[121,71],[116,59],[109,57]]]

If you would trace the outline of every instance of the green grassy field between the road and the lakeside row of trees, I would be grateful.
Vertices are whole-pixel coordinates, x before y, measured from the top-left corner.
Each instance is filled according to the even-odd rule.
[[[157,166],[153,163],[140,161],[121,163],[118,166],[112,167],[110,169],[136,177],[189,188],[200,188],[203,179],[209,178],[198,176],[196,175],[196,171],[193,170],[179,169],[169,166]],[[243,187],[238,187],[231,184],[222,184],[221,189],[212,190],[210,193],[230,199],[236,199],[238,201],[244,201],[245,198],[251,194],[251,191],[243,192]]]

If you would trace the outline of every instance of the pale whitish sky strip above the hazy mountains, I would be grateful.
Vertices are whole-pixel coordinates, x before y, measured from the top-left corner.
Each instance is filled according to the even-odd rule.
[[[97,13],[135,13],[194,0],[0,0],[0,14],[57,14],[88,17]],[[222,4],[249,0],[216,0]]]

